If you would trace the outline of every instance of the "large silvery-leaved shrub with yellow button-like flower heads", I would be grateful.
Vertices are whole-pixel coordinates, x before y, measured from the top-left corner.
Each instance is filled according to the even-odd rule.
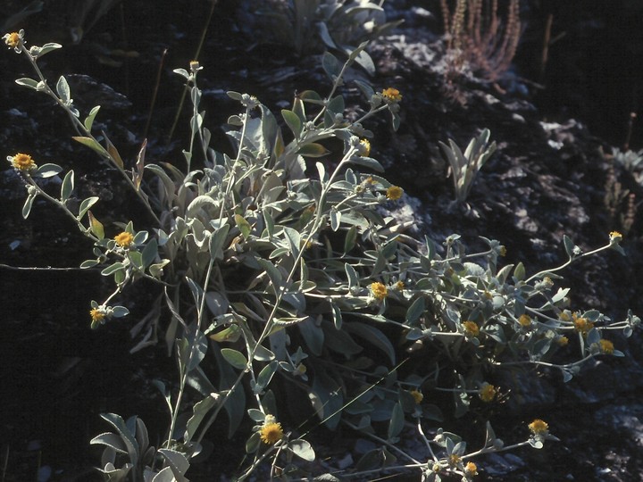
[[[442,245],[405,235],[387,209],[404,191],[381,176],[372,157],[377,139],[365,127],[388,112],[397,129],[402,94],[360,81],[363,114],[345,117],[344,74],[366,44],[347,62],[324,54],[330,94],[302,90],[279,116],[255,96],[230,91],[239,106],[228,121],[232,156],[210,143],[199,110],[203,67],[191,62],[176,70],[193,105],[183,158],[146,162],[144,142],[127,165],[106,135],[93,133],[99,106],[79,112],[64,76],[54,88],[42,76],[38,59],[60,46],[27,48],[22,30],[4,41],[36,72],[17,83],[54,99],[79,147],[118,170],[149,213],[146,226],[104,225],[91,212],[98,197],[74,199],[73,170],[38,165],[35,154],[7,158],[27,187],[24,217],[35,198],[46,198],[94,242],[81,266],[113,278],[113,293],[88,307],[92,328],[128,314],[117,303],[138,279],[157,287],[152,314],[139,322],[147,335],[134,349],[160,332],[176,357],[174,386],[155,382],[168,428],[155,448],[142,420],[104,414],[113,431],[92,443],[105,447],[101,471],[109,480],[187,480],[196,456],[217,457],[221,416],[228,436],[242,430],[246,438],[239,480],[260,466],[270,478],[321,475],[308,463],[320,426],[353,430],[376,447],[325,480],[383,470],[471,480],[480,454],[557,438],[537,419],[522,428],[522,441],[505,444],[487,422],[484,443],[471,447],[442,427],[444,413],[465,417],[472,407],[500,403],[511,387],[494,385],[496,370],[547,367],[569,380],[596,357],[622,356],[610,334],[630,336],[640,323],[632,313],[613,322],[572,306],[558,275],[580,258],[624,253],[618,232],[587,253],[564,237],[567,262],[534,274],[520,262],[504,264],[497,240],[482,237],[487,248],[469,253],[457,235]],[[55,176],[60,190],[50,192],[41,179]],[[303,414],[288,410],[292,397],[306,405]],[[426,446],[422,460],[398,444],[411,435]]]

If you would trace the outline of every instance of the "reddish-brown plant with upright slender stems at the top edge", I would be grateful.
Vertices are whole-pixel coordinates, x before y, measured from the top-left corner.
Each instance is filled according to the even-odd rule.
[[[507,3],[505,21],[497,0],[440,0],[449,69],[447,81],[464,71],[496,82],[511,66],[521,37],[520,4]]]

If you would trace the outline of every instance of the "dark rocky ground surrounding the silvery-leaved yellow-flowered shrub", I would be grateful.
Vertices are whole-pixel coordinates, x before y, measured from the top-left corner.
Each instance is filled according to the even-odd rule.
[[[399,215],[415,220],[418,230],[438,242],[454,232],[472,246],[479,244],[480,235],[497,238],[507,247],[506,262],[522,261],[528,271],[564,262],[565,234],[590,249],[603,245],[607,233],[618,229],[626,235],[626,258],[609,252],[574,265],[564,276],[574,305],[597,308],[614,320],[622,319],[628,308],[640,315],[640,216],[623,201],[610,203],[608,193],[619,183],[630,191],[636,208],[643,191],[601,149],[610,153],[611,145],[622,145],[629,112],[640,108],[637,75],[643,34],[636,26],[641,25],[641,7],[627,1],[523,2],[525,31],[516,69],[500,88],[463,79],[460,102],[455,102],[444,96],[436,3],[389,2],[389,17],[403,17],[405,24],[370,49],[378,68],[373,84],[395,86],[404,94],[397,133],[386,120],[369,126],[376,133],[373,155],[388,168],[388,179],[409,195]],[[17,4],[10,1],[7,9]],[[288,47],[259,43],[256,19],[237,8],[232,0],[217,6],[199,59],[205,65],[207,122],[221,149],[226,141],[218,126],[237,109],[226,90],[255,94],[277,110],[288,105],[297,89],[323,92],[327,86],[318,57],[296,58]],[[79,106],[103,105],[99,120],[123,157],[131,159],[144,136],[156,71],[167,48],[147,155],[154,161],[180,155],[181,133],[168,139],[181,93],[180,79],[171,69],[186,66],[194,55],[209,3],[122,3],[97,19],[79,44],[71,45],[69,28],[78,23],[77,10],[73,2],[50,1],[44,12],[21,23],[29,44],[65,45],[44,59],[47,77],[75,74],[70,81]],[[560,39],[541,73],[541,38],[550,12]],[[116,49],[138,56],[123,56]],[[97,213],[101,219],[118,212],[140,216],[110,173],[96,168],[90,154],[72,144],[71,129],[60,112],[44,96],[13,84],[14,78],[29,75],[27,62],[7,51],[0,55],[0,66],[3,156],[25,151],[73,166],[78,179],[86,181],[83,188],[107,201],[107,209]],[[353,95],[357,102],[357,93]],[[437,142],[453,138],[463,145],[485,127],[499,148],[472,189],[469,203],[475,215],[448,212],[452,186]],[[643,145],[639,124],[630,145]],[[29,221],[22,220],[22,187],[12,170],[0,174],[1,263],[70,267],[88,257],[88,244],[46,205],[37,203]],[[129,355],[127,322],[97,332],[88,329],[88,301],[100,299],[107,289],[96,272],[0,268],[0,279],[2,480],[36,479],[38,468],[40,480],[92,479],[89,469],[98,453],[88,447],[88,440],[105,429],[97,416],[102,411],[138,413],[164,426],[163,403],[148,380],[171,378],[173,364],[162,349]],[[129,295],[133,319],[146,312],[154,295],[148,288],[138,287]],[[640,342],[640,335],[616,340],[627,358],[597,362],[567,385],[557,373],[545,372],[530,384],[518,379],[511,402],[491,414],[498,436],[522,440],[524,424],[539,417],[561,442],[542,451],[521,450],[480,461],[479,479],[643,480]],[[329,455],[341,458],[352,451],[358,456],[360,443],[347,437],[343,444],[342,454],[329,446]],[[230,470],[219,465],[229,458],[222,453],[212,466],[196,467],[192,479],[211,480]]]

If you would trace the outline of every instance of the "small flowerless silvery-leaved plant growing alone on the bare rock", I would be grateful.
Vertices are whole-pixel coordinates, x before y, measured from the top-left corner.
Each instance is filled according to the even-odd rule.
[[[439,143],[442,153],[449,162],[456,204],[464,204],[471,192],[476,175],[489,160],[489,157],[496,152],[496,143],[489,144],[490,135],[489,129],[483,129],[480,136],[472,138],[464,150],[464,154],[451,139],[448,140],[449,145],[443,142]]]

